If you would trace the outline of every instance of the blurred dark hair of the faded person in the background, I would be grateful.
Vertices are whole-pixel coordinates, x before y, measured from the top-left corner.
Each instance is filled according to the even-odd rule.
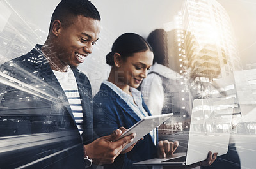
[[[148,43],[153,48],[153,63],[166,65],[168,60],[168,38],[164,29],[155,29],[147,38]]]

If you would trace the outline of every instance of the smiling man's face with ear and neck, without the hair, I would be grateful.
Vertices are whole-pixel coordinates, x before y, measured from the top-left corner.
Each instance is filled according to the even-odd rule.
[[[60,20],[52,21],[42,52],[51,60],[52,70],[65,72],[68,66],[76,68],[92,53],[92,46],[99,38],[100,18],[78,15],[64,18],[65,22]]]

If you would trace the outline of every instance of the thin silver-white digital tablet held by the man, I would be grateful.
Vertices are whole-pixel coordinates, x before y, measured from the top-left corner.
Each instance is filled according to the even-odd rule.
[[[167,121],[170,117],[172,117],[173,113],[171,114],[161,114],[161,115],[152,115],[147,116],[141,119],[141,121],[134,124],[131,128],[127,129],[120,138],[130,135],[131,133],[136,133],[136,137],[131,143],[128,143],[123,150],[130,147],[133,143],[137,142],[142,138],[143,136],[147,135],[152,129],[156,128],[160,124],[162,124],[164,121]],[[118,139],[120,139],[118,138]]]

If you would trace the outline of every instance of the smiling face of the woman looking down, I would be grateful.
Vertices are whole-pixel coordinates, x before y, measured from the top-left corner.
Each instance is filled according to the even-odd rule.
[[[147,71],[153,64],[153,57],[153,52],[147,50],[122,59],[118,70],[115,72],[115,81],[120,85],[139,87],[143,78],[147,77]]]

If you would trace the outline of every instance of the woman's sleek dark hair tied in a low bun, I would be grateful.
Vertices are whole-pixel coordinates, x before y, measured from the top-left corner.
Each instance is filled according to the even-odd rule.
[[[125,59],[134,53],[145,52],[147,50],[153,51],[143,37],[135,33],[124,33],[113,43],[111,52],[106,55],[106,62],[108,65],[113,66],[115,64],[115,53],[120,54],[122,59]]]

